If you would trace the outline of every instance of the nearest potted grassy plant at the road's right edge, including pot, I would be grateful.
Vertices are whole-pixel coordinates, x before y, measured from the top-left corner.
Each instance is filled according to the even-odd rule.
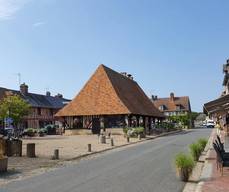
[[[181,181],[187,182],[195,165],[192,157],[184,153],[179,153],[175,157],[175,165],[177,175],[180,177]]]

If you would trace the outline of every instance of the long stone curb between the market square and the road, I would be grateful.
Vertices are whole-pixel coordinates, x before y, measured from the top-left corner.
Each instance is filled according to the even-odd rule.
[[[152,137],[152,138],[144,138],[142,140],[135,141],[135,142],[132,142],[132,143],[126,143],[126,144],[123,144],[123,145],[114,146],[114,147],[103,149],[103,150],[100,150],[100,151],[94,151],[94,152],[83,154],[83,155],[79,155],[77,157],[73,157],[73,158],[70,158],[70,159],[65,159],[63,161],[79,160],[79,159],[82,159],[84,157],[93,156],[93,155],[96,155],[96,154],[99,154],[99,153],[104,153],[104,152],[107,152],[107,151],[111,151],[113,149],[118,149],[118,148],[122,148],[122,147],[125,147],[125,146],[134,145],[134,144],[137,144],[137,143],[142,143],[142,142],[145,142],[145,141],[153,140],[153,139],[156,139],[156,138],[159,138],[159,137],[164,137],[164,136],[167,136],[167,135],[172,135],[172,134],[176,134],[176,133],[180,133],[180,132],[183,132],[183,130],[171,131],[171,132],[168,132],[168,133],[162,133],[161,135],[157,135],[157,136]]]

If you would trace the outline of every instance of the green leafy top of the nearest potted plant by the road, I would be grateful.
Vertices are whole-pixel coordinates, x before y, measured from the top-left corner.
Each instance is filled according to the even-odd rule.
[[[188,169],[191,172],[195,163],[190,155],[178,153],[175,157],[175,165],[178,169]]]

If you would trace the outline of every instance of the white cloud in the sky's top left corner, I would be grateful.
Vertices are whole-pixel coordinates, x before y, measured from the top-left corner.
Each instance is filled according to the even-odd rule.
[[[10,19],[30,0],[0,0],[0,20]]]

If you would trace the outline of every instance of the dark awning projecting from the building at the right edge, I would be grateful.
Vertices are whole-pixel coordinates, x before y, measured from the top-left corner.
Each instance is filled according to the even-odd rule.
[[[216,113],[229,110],[229,94],[204,104],[204,113]]]

